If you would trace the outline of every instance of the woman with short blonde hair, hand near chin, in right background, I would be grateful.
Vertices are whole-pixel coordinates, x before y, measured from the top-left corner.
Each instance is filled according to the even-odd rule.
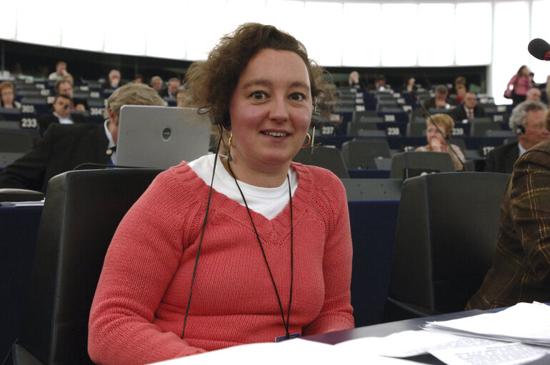
[[[428,118],[426,119],[426,139],[428,140],[428,144],[426,144],[426,146],[420,146],[414,151],[445,152],[451,155],[451,160],[453,160],[456,170],[463,169],[461,161],[466,161],[464,152],[462,152],[460,147],[456,146],[456,144],[449,144],[447,141],[454,128],[454,120],[447,114],[434,114],[431,116],[431,119],[433,119],[436,126],[444,133],[445,137],[441,136],[436,126],[434,126],[434,123]],[[453,149],[455,153],[453,153],[451,149]]]

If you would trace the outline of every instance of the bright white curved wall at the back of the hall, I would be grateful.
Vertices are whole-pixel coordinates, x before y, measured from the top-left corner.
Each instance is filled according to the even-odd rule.
[[[0,38],[169,59],[203,59],[222,34],[246,21],[274,24],[304,42],[324,66],[488,65],[497,102],[521,64],[549,38],[550,1],[11,0]]]

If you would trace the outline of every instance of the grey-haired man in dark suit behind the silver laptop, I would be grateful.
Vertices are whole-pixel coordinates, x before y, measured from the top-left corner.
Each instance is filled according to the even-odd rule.
[[[0,188],[46,191],[51,177],[80,164],[116,164],[119,114],[123,105],[163,106],[164,101],[144,84],[121,86],[107,100],[104,123],[51,124],[44,138],[1,171]]]

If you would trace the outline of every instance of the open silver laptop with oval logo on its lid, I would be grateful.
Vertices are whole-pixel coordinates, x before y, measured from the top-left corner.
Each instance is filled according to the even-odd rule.
[[[116,164],[167,169],[193,161],[208,153],[210,128],[194,108],[122,106]]]

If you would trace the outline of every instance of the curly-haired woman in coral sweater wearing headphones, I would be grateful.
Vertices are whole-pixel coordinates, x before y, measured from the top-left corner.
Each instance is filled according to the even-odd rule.
[[[186,84],[226,155],[160,174],[109,246],[89,319],[97,364],[147,364],[354,326],[344,187],[291,162],[332,97],[273,26],[224,36]],[[316,82],[315,82],[316,81]]]

